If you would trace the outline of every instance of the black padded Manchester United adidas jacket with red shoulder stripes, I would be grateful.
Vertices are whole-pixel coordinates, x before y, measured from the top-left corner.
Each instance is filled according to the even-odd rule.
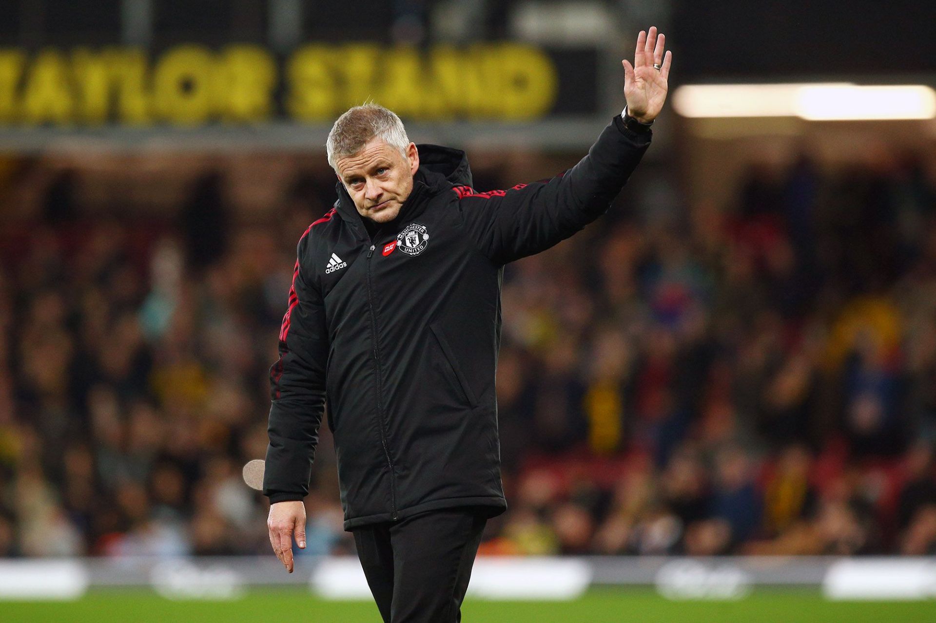
[[[344,529],[453,506],[503,513],[504,266],[607,211],[650,141],[617,116],[563,175],[486,193],[464,152],[418,146],[413,191],[373,238],[339,183],[300,239],[271,367],[271,503],[308,494],[327,402]]]

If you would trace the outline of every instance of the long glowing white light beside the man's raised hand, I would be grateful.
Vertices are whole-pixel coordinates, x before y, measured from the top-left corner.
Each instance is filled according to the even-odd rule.
[[[690,118],[932,119],[936,117],[936,91],[924,85],[849,82],[690,84],[673,94],[673,108]]]

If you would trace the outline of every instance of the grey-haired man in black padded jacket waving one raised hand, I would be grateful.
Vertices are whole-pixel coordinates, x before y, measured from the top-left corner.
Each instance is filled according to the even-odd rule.
[[[387,109],[331,129],[338,202],[299,242],[271,368],[264,493],[293,571],[326,398],[344,529],[384,621],[461,620],[481,532],[504,513],[494,370],[508,262],[603,214],[650,145],[672,53],[656,28],[622,61],[627,106],[564,175],[477,193],[465,154]]]

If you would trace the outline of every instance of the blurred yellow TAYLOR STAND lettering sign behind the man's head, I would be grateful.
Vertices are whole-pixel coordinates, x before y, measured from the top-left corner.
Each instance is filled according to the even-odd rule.
[[[369,99],[407,119],[520,121],[550,112],[558,82],[548,53],[516,43],[316,44],[283,62],[252,45],[0,49],[0,125],[328,123]]]

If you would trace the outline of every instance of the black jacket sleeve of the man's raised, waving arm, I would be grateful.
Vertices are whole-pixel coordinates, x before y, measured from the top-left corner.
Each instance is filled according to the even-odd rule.
[[[618,115],[578,165],[551,180],[487,193],[455,187],[462,223],[497,264],[545,251],[607,211],[650,142],[650,132],[632,132]]]

